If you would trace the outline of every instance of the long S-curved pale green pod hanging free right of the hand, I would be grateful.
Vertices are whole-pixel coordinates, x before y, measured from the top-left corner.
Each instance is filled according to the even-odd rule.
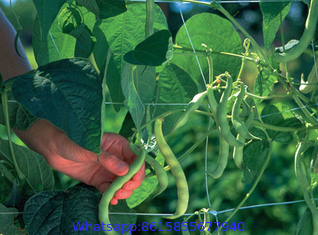
[[[171,173],[176,179],[178,203],[175,213],[172,216],[165,216],[166,219],[176,219],[182,216],[188,208],[189,203],[189,189],[188,182],[183,172],[183,169],[167,144],[162,133],[162,119],[158,118],[155,121],[155,137],[157,140],[158,148],[165,158],[167,164],[170,166]]]

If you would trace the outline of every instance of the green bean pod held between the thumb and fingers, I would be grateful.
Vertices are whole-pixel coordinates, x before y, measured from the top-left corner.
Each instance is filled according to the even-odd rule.
[[[129,143],[129,147],[134,151],[135,145],[132,143]],[[145,148],[141,148],[140,152],[138,154],[138,158],[136,161],[134,161],[131,166],[129,167],[129,171],[126,175],[117,177],[114,182],[112,182],[109,186],[109,188],[104,192],[102,199],[99,203],[99,221],[100,223],[104,223],[107,226],[107,229],[105,231],[108,235],[118,235],[116,231],[114,231],[113,227],[111,226],[110,220],[109,220],[109,203],[111,199],[114,197],[115,193],[123,187],[123,185],[130,180],[141,168],[142,164],[144,163],[146,157],[146,150]],[[109,226],[111,227],[110,231],[107,231],[109,229]]]

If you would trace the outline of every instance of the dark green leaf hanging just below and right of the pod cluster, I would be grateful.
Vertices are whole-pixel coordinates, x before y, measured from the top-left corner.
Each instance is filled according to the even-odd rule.
[[[268,141],[253,140],[244,146],[243,152],[243,184],[249,184],[257,176],[265,164],[268,154]]]

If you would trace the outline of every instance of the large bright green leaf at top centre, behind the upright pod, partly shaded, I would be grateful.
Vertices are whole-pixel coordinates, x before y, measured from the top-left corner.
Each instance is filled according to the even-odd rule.
[[[145,37],[146,4],[132,4],[127,11],[116,17],[98,20],[93,30],[96,37],[94,58],[100,71],[111,48],[107,85],[113,102],[123,102],[120,78],[124,67],[123,55],[133,50]],[[167,29],[167,22],[159,6],[155,8],[155,31]],[[116,108],[116,107],[115,107]]]

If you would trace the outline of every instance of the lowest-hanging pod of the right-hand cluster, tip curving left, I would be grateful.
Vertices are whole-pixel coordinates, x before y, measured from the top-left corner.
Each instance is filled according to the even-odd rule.
[[[217,179],[220,178],[227,166],[227,162],[229,159],[229,144],[223,138],[222,133],[219,131],[219,140],[220,140],[220,148],[219,148],[219,159],[218,163],[216,164],[216,168],[213,170],[212,173],[209,173],[213,178]]]

